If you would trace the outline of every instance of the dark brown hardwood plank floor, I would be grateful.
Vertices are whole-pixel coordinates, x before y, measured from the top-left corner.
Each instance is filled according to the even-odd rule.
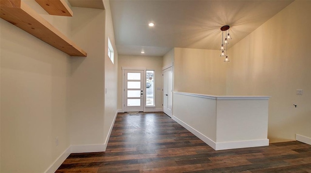
[[[311,173],[311,145],[215,151],[164,113],[119,113],[106,152],[70,154],[56,173]]]

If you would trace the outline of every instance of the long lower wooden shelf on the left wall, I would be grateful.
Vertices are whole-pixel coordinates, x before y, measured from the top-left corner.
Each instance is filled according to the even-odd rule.
[[[0,0],[0,17],[70,56],[86,52],[21,0]]]

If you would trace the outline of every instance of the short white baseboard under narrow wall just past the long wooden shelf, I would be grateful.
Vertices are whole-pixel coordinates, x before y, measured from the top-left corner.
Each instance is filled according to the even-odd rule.
[[[104,152],[107,144],[71,145],[71,153]]]

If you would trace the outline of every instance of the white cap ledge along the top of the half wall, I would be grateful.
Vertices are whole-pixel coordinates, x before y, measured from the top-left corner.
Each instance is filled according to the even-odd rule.
[[[194,93],[183,93],[183,92],[173,92],[174,94],[189,95],[195,97],[208,98],[213,100],[259,100],[259,99],[269,99],[270,96],[235,96],[235,95],[207,95],[207,94],[194,94]]]

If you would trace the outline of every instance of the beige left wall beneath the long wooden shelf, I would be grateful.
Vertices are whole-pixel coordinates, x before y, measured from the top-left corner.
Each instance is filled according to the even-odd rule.
[[[0,25],[0,169],[42,173],[69,147],[69,55],[3,19]]]

